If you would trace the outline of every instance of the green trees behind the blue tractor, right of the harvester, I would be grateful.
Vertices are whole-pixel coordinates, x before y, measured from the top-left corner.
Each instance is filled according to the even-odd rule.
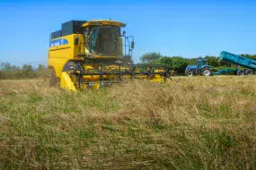
[[[242,55],[242,56],[251,58],[252,60],[256,60],[256,55]],[[181,73],[184,73],[188,65],[195,65],[197,60],[202,58],[206,59],[207,64],[209,64],[212,67],[218,67],[218,68],[235,67],[234,64],[220,61],[218,56],[206,55],[204,57],[184,58],[181,56],[161,55],[160,53],[156,53],[156,52],[146,53],[142,55],[140,57],[140,62],[141,64],[164,64],[169,66],[172,69],[172,72],[181,74]]]

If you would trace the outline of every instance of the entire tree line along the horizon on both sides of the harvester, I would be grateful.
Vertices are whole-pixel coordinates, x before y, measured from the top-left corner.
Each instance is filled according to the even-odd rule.
[[[256,60],[256,55],[242,55],[252,60]],[[188,65],[196,64],[197,60],[204,58],[207,64],[212,67],[224,68],[235,67],[219,60],[217,56],[207,55],[205,57],[184,58],[181,56],[166,56],[160,53],[151,52],[146,53],[140,57],[141,64],[164,64],[172,69],[172,72],[177,74],[184,73]],[[0,80],[3,79],[25,79],[25,78],[38,78],[47,76],[49,71],[45,65],[39,64],[37,68],[33,68],[31,64],[23,64],[22,66],[15,66],[9,63],[0,64]]]

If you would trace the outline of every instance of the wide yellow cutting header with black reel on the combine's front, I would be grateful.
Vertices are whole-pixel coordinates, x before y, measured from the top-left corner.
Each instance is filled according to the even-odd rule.
[[[160,64],[75,64],[68,62],[62,72],[61,87],[72,91],[99,89],[101,86],[135,79],[161,83],[170,78],[169,71],[168,67]]]

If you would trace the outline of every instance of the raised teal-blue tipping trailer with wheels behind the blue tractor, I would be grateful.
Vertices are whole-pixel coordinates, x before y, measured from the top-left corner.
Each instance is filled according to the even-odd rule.
[[[236,64],[244,68],[247,68],[246,70],[238,69],[236,71],[237,75],[243,75],[243,74],[252,75],[254,72],[256,72],[256,61],[250,58],[243,57],[241,55],[234,55],[232,53],[223,51],[220,54],[220,59],[224,62],[227,62],[230,64]]]

